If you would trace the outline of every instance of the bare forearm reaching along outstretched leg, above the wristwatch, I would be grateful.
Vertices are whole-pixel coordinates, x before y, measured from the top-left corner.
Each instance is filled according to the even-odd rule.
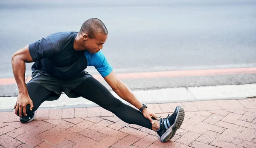
[[[116,94],[118,94],[118,96],[121,97],[123,100],[131,103],[136,108],[140,109],[142,107],[141,102],[137,100],[133,92],[127,87],[127,85],[125,85],[125,83],[119,83],[118,88],[113,91],[115,91]]]

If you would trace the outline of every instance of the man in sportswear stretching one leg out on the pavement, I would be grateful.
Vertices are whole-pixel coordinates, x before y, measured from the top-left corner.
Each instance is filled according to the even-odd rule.
[[[20,122],[32,121],[41,103],[57,100],[64,92],[68,97],[93,101],[124,122],[157,131],[162,142],[171,139],[183,122],[183,108],[177,106],[171,116],[156,119],[156,114],[137,100],[108,63],[101,51],[107,37],[104,23],[91,18],[83,23],[79,32],[51,34],[16,51],[12,68],[19,95],[14,108]],[[31,62],[35,62],[32,79],[25,84],[25,63]],[[113,97],[104,85],[84,71],[87,66],[94,66],[116,94],[140,111]]]

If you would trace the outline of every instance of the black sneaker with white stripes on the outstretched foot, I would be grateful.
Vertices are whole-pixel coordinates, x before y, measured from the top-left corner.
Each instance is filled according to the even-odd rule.
[[[174,137],[184,120],[184,109],[177,106],[174,113],[171,116],[169,115],[166,118],[157,117],[160,118],[160,128],[157,130],[157,134],[161,137],[162,142],[166,142]]]

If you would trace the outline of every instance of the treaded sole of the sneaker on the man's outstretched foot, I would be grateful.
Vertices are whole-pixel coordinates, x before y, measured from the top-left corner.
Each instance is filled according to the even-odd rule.
[[[167,131],[161,136],[160,139],[162,142],[166,142],[166,141],[172,139],[172,137],[174,137],[177,129],[180,128],[180,125],[182,124],[182,122],[184,120],[184,114],[185,114],[184,109],[180,107],[177,114],[178,115],[175,119],[174,124],[170,128],[168,128]]]

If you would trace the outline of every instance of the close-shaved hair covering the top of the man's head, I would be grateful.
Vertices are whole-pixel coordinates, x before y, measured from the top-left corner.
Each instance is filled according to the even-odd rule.
[[[83,23],[79,33],[85,33],[88,34],[88,37],[95,38],[96,34],[108,34],[108,30],[101,20],[90,18]]]

